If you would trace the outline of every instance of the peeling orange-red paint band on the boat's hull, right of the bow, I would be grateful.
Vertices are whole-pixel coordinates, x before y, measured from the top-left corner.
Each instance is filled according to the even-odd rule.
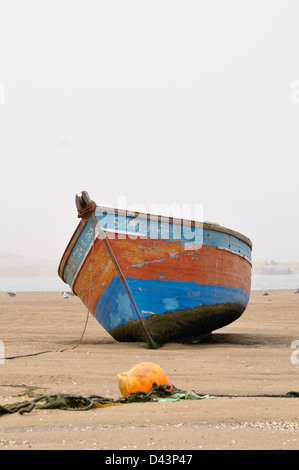
[[[198,251],[185,251],[179,243],[167,240],[139,239],[132,243],[129,238],[111,239],[110,244],[126,278],[151,280],[163,272],[164,281],[194,281],[250,292],[250,263],[213,245],[204,245]],[[175,256],[171,256],[174,252]]]

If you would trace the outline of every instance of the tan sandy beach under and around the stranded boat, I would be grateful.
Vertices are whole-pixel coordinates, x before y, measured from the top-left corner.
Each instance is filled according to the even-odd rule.
[[[215,398],[7,414],[0,417],[0,450],[299,448],[298,398],[240,396],[299,391],[299,354],[291,348],[299,342],[299,294],[254,291],[242,317],[204,343],[155,350],[117,343],[91,315],[71,349],[86,315],[78,298],[59,292],[0,293],[5,356],[49,351],[0,364],[0,405],[46,393],[117,399],[117,374],[142,361],[163,367],[177,388]]]

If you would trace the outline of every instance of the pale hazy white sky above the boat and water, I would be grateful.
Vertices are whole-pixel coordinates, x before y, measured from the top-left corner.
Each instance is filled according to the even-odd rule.
[[[297,0],[0,0],[0,252],[59,259],[87,190],[203,204],[255,261],[299,261],[298,18]]]

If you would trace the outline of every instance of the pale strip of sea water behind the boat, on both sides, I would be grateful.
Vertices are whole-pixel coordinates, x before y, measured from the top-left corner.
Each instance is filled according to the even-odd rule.
[[[299,274],[254,274],[252,290],[299,289]],[[0,277],[0,292],[62,292],[70,287],[56,277]]]

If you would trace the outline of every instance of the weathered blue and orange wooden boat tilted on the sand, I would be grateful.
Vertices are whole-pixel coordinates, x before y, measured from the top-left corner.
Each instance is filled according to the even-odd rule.
[[[100,207],[81,194],[82,220],[59,276],[113,338],[155,347],[194,340],[242,315],[248,238],[213,223]]]

